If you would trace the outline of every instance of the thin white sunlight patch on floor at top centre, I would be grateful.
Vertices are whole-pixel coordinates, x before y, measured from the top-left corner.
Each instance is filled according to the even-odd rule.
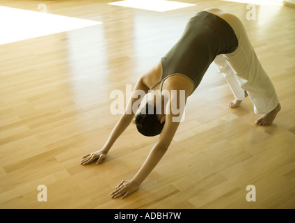
[[[175,10],[179,8],[186,8],[196,6],[195,4],[183,3],[178,1],[164,1],[164,0],[126,0],[109,3],[109,5],[123,6],[129,8],[140,8],[145,10],[152,10],[157,12],[166,12],[168,10]]]

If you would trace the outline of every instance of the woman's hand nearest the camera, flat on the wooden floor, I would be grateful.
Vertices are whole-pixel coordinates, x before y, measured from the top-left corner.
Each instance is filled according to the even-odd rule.
[[[111,192],[111,198],[118,198],[122,197],[124,199],[129,194],[138,190],[138,183],[134,182],[134,180],[123,180],[115,190]]]

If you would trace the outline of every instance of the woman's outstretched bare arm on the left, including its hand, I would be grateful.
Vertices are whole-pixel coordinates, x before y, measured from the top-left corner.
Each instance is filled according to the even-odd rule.
[[[109,150],[115,143],[115,141],[120,137],[122,132],[126,130],[128,125],[131,123],[134,114],[136,111],[136,108],[132,109],[134,107],[134,103],[136,102],[136,106],[140,105],[141,100],[143,100],[143,97],[138,98],[138,91],[144,92],[145,94],[148,93],[148,86],[146,86],[143,83],[143,77],[138,80],[134,91],[131,94],[131,97],[129,99],[129,102],[127,103],[127,107],[125,109],[124,114],[120,117],[120,120],[115,125],[115,128],[113,128],[113,131],[111,132],[109,139],[106,141],[106,144],[104,144],[104,147],[100,151],[96,151],[94,153],[89,153],[87,155],[83,156],[83,159],[81,160],[81,164],[86,165],[90,164],[94,160],[97,160],[96,164],[99,164],[102,162],[104,157],[106,157],[106,154],[109,153]]]

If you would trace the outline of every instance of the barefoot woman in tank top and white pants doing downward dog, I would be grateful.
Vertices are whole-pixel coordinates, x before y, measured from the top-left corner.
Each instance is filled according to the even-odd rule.
[[[104,147],[85,155],[81,160],[83,165],[94,160],[97,160],[96,164],[102,162],[115,140],[134,118],[136,111],[131,108],[138,102],[136,92],[148,93],[149,90],[154,90],[145,107],[136,115],[135,122],[138,131],[146,136],[161,133],[159,140],[134,178],[123,180],[111,193],[111,197],[125,198],[138,190],[139,185],[161,160],[180,124],[186,99],[200,84],[212,61],[234,94],[235,99],[229,106],[238,107],[248,95],[255,113],[262,114],[256,121],[257,125],[273,123],[280,111],[278,97],[257,59],[243,24],[236,16],[218,8],[202,10],[189,20],[182,38],[166,56],[138,80],[125,113]],[[126,111],[132,112],[129,114]]]

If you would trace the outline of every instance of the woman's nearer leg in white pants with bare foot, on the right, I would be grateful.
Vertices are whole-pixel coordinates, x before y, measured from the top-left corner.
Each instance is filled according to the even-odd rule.
[[[225,54],[225,59],[237,73],[237,81],[241,88],[248,92],[254,105],[254,112],[263,114],[256,121],[257,125],[271,125],[280,111],[276,90],[262,68],[241,21],[229,13],[224,13],[223,16],[223,19],[232,26],[239,40],[237,49],[230,54]]]

